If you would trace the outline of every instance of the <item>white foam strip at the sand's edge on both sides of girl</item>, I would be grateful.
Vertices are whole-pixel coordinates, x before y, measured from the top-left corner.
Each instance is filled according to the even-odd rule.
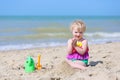
[[[106,41],[106,42],[89,42],[89,45],[102,45],[102,44],[108,44],[108,43],[119,43],[120,41]],[[55,43],[54,43],[55,44]],[[29,44],[28,44],[29,45]],[[36,45],[37,47],[35,47],[35,45],[33,47],[28,47],[28,45],[5,45],[4,47],[0,46],[0,52],[6,52],[6,51],[15,51],[15,50],[32,50],[32,49],[41,49],[41,48],[54,48],[54,47],[64,47],[64,46],[67,46],[66,42],[62,43],[62,44],[57,44],[57,45],[49,45],[49,46],[45,46],[45,45],[41,45],[41,46],[38,46]],[[25,47],[26,46],[26,47]],[[10,48],[12,47],[12,48]],[[18,48],[19,47],[19,48]],[[23,47],[23,48],[20,48],[20,47]]]

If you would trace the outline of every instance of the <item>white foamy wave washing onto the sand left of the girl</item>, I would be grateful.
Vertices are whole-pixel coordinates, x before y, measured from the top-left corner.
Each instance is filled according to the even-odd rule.
[[[65,46],[66,42],[43,42],[43,43],[31,43],[31,44],[8,44],[8,45],[0,45],[0,51],[8,51],[8,50],[21,50],[21,49],[32,49],[32,48],[40,48],[40,47],[54,47],[54,46]]]

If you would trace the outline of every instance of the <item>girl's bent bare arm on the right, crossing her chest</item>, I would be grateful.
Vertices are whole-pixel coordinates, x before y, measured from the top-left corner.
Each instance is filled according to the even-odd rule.
[[[87,50],[87,47],[88,47],[88,42],[87,42],[87,40],[83,40],[83,41],[82,41],[82,47],[81,47],[81,48],[78,47],[78,46],[75,46],[74,48],[76,49],[76,51],[77,51],[78,53],[80,53],[81,55],[84,55],[84,53],[85,53],[86,50]]]

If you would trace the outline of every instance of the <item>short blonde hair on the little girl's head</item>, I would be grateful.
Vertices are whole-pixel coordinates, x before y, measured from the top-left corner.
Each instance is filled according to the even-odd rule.
[[[75,20],[71,26],[70,26],[70,30],[72,31],[74,28],[77,28],[78,31],[82,31],[85,32],[86,31],[86,26],[84,24],[83,21],[81,20]]]

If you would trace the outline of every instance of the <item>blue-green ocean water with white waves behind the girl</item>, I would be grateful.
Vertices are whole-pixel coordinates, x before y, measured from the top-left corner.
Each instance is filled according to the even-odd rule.
[[[120,42],[120,16],[0,16],[0,50],[66,46],[76,19],[89,44]]]

